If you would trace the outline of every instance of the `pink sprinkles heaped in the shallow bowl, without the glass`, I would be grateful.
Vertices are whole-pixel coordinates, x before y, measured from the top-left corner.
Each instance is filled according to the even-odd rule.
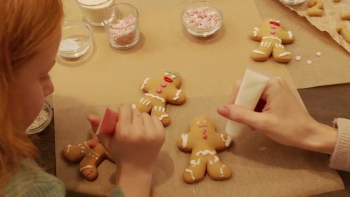
[[[221,23],[220,14],[208,7],[188,9],[182,15],[182,19],[186,24],[200,30],[211,29]]]

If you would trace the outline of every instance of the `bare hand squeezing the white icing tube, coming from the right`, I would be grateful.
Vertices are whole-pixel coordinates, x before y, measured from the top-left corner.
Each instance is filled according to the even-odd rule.
[[[261,96],[266,101],[261,113],[232,104],[238,90],[239,83],[230,104],[218,107],[220,115],[260,130],[281,144],[332,154],[336,130],[316,122],[295,98],[285,80],[279,77],[270,79]]]

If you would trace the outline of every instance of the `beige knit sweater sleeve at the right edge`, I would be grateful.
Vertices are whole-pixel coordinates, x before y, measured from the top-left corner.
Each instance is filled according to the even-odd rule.
[[[338,127],[338,136],[330,167],[350,171],[350,120],[337,118],[334,125]]]

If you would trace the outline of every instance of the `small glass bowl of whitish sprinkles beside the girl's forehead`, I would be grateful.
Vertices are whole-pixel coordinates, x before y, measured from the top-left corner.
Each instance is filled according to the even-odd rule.
[[[65,21],[58,55],[67,58],[80,57],[89,50],[92,39],[92,29],[88,24],[83,21]]]

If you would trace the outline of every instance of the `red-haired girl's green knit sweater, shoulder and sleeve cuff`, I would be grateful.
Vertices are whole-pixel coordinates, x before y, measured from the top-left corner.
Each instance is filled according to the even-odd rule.
[[[3,193],[3,197],[62,197],[65,196],[65,187],[63,183],[42,170],[34,161],[23,160],[17,171],[10,178],[9,183]],[[115,188],[111,197],[123,197],[124,194],[120,188]]]

